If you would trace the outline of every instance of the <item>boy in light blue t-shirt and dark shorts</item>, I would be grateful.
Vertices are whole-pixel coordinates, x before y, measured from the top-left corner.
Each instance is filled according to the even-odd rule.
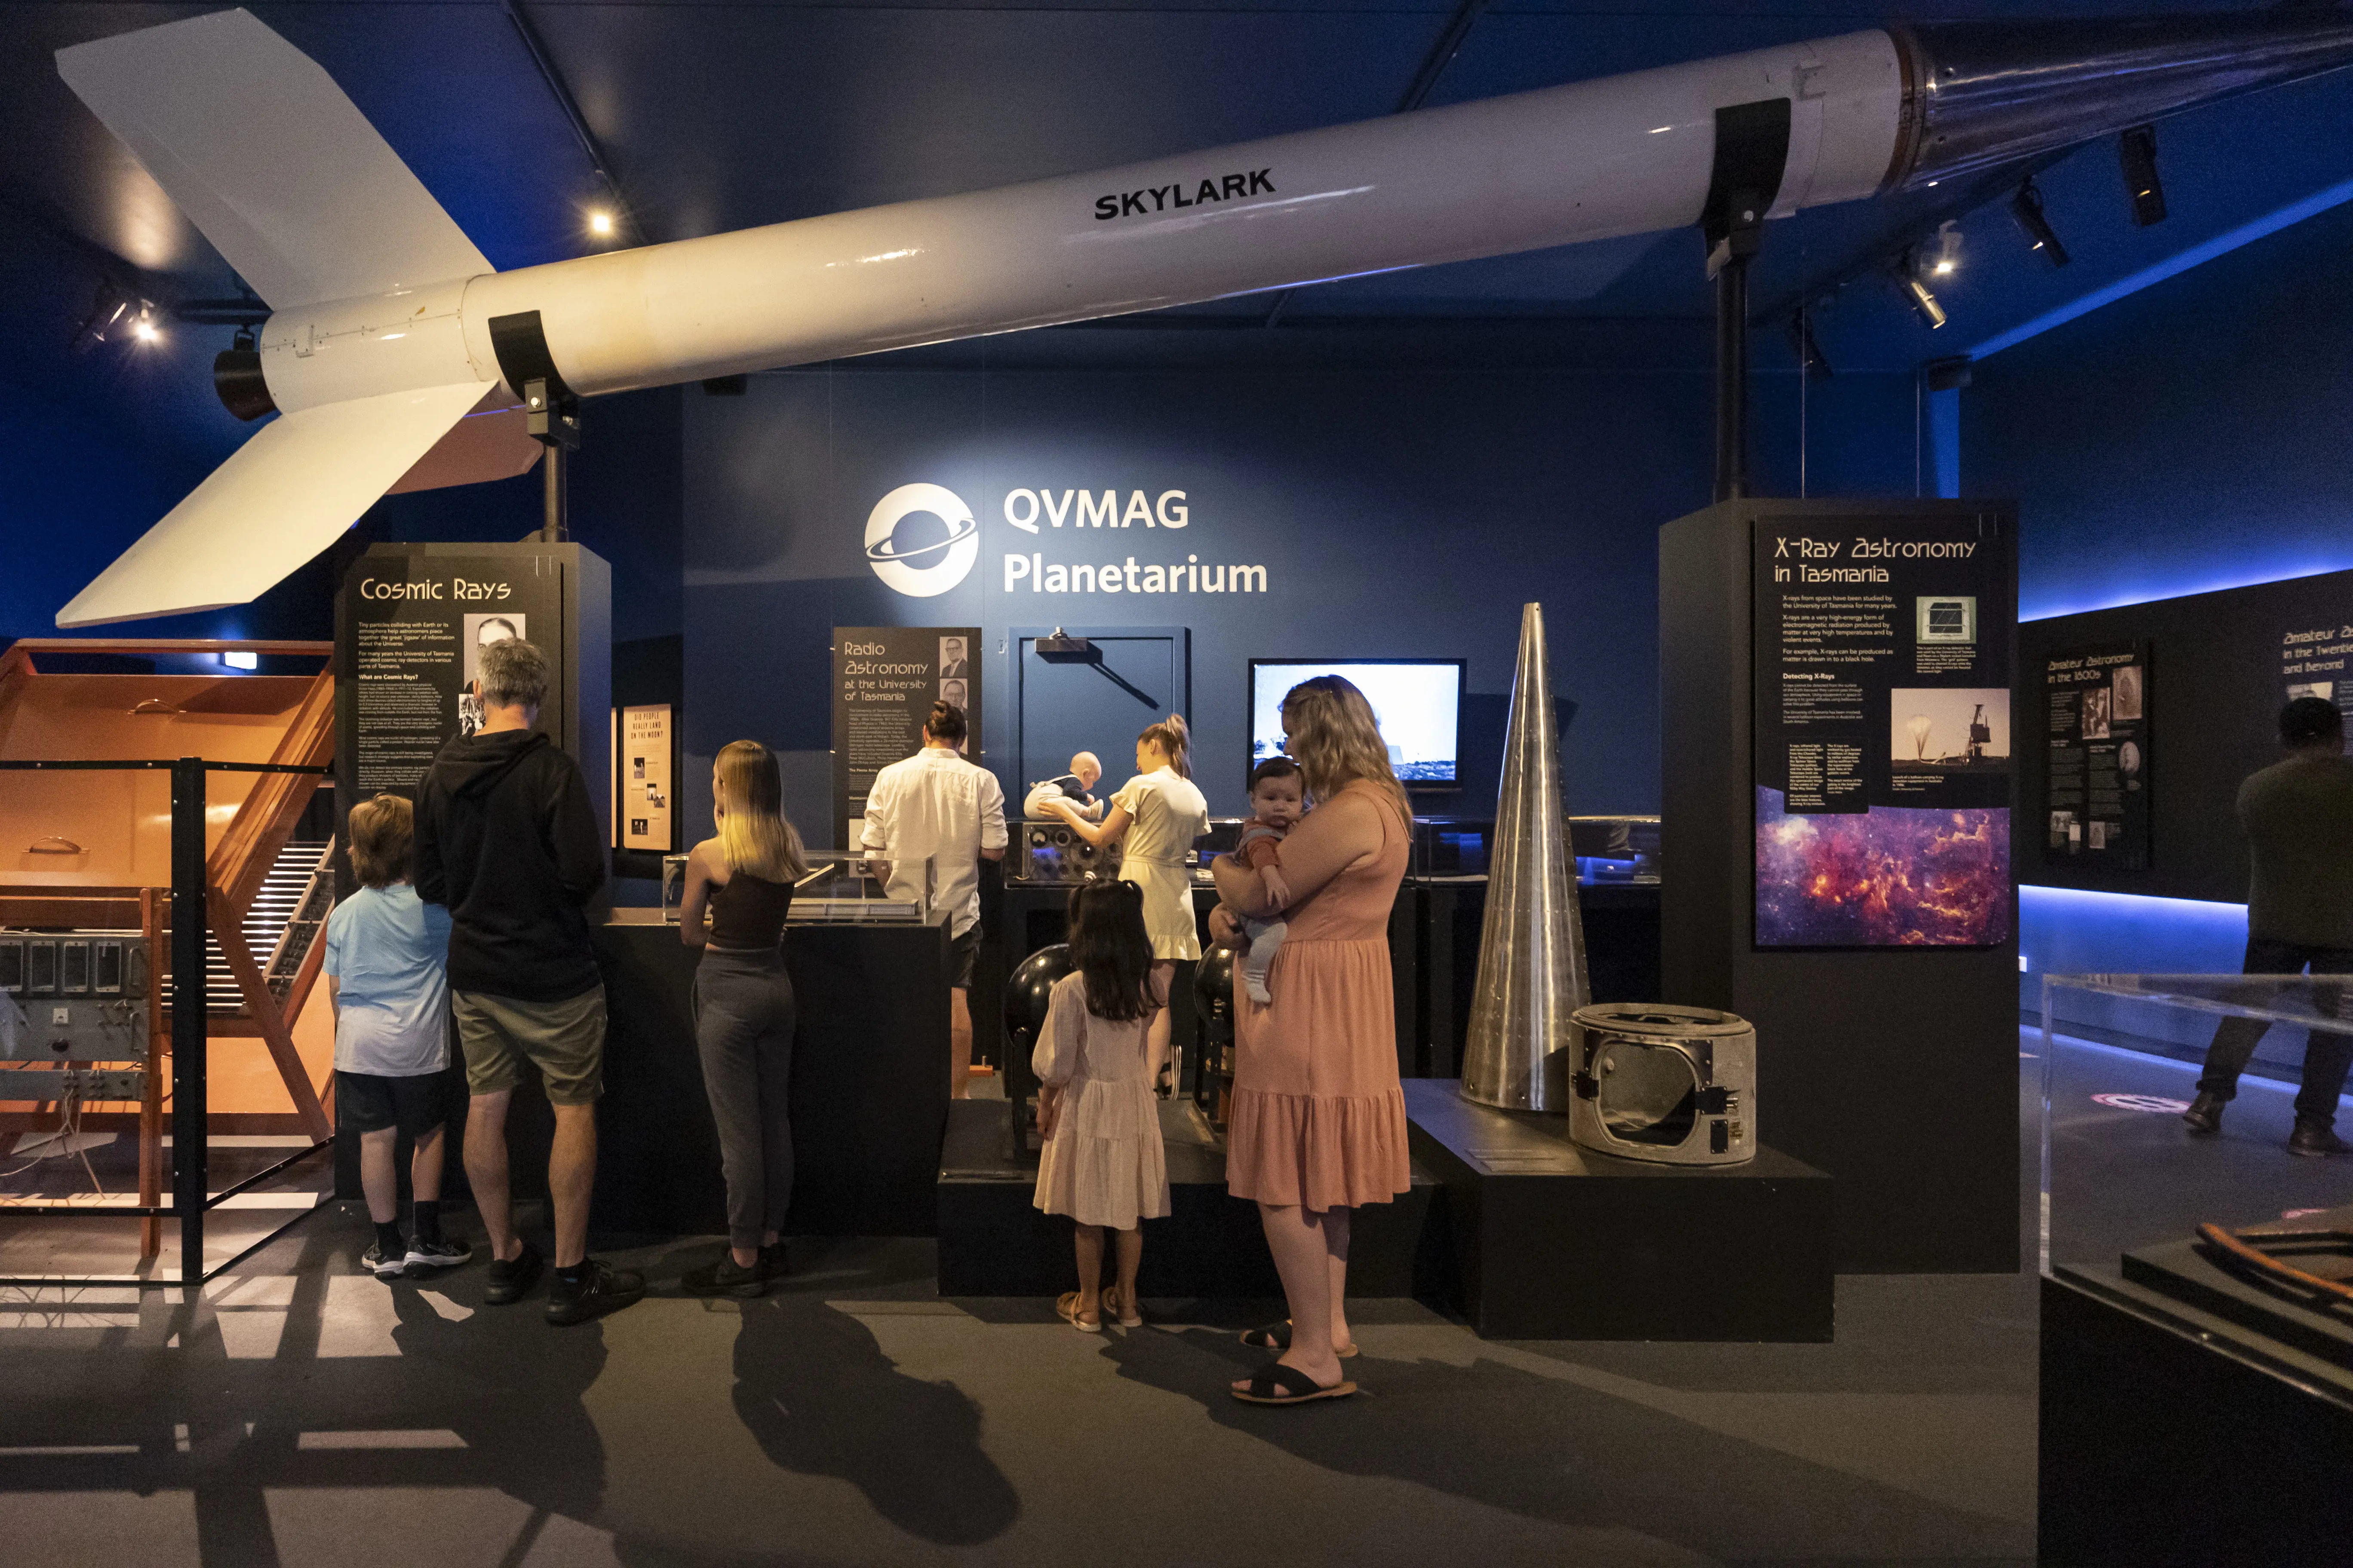
[[[440,1232],[442,1124],[449,1098],[449,910],[409,886],[414,816],[398,795],[351,809],[351,867],[365,884],[327,914],[334,1001],[334,1110],[360,1135],[360,1185],[376,1239],[360,1265],[376,1279],[454,1269],[473,1248]],[[414,1140],[416,1239],[400,1239],[393,1150]]]

